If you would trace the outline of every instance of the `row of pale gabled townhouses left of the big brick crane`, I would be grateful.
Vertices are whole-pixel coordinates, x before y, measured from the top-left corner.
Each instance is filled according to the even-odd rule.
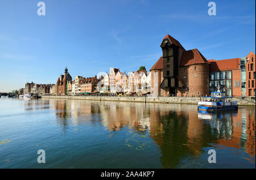
[[[64,75],[57,79],[51,94],[76,95],[80,93],[110,93],[114,94],[147,94],[151,90],[151,72],[146,69],[126,74],[119,69],[110,68],[110,73],[97,78],[76,76],[72,81],[67,68]]]

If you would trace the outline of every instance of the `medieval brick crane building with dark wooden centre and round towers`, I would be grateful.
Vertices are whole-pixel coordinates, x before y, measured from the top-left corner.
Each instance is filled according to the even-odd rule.
[[[163,57],[151,71],[151,94],[160,96],[199,97],[209,94],[209,62],[198,51],[186,51],[183,46],[167,35],[160,47]]]

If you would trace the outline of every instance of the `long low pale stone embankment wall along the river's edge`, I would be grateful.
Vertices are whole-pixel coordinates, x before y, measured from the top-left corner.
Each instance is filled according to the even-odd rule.
[[[170,104],[197,104],[199,97],[105,97],[105,96],[68,96],[68,95],[44,95],[42,98],[51,99],[80,99],[92,101],[121,101],[143,103],[170,103]],[[241,98],[233,98],[240,106],[255,106],[255,101],[247,101]]]

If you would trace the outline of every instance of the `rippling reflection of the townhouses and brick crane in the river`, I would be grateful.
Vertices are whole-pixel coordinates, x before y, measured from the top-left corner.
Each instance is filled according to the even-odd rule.
[[[186,104],[74,100],[49,103],[55,104],[56,117],[63,127],[69,123],[100,123],[109,131],[129,128],[150,136],[161,150],[163,168],[175,168],[186,157],[198,157],[205,153],[203,148],[211,145],[245,149],[255,158],[255,108],[201,114],[197,106]]]

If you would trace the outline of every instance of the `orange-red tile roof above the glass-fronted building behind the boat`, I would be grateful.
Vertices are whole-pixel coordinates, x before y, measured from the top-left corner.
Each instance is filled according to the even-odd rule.
[[[210,61],[210,71],[240,69],[240,58]]]

